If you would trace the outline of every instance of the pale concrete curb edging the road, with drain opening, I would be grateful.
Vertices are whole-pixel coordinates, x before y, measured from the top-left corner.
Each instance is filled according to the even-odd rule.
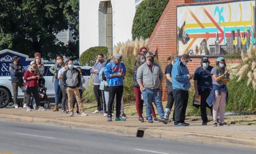
[[[157,128],[137,128],[118,125],[100,125],[93,123],[77,123],[52,118],[34,118],[19,115],[7,115],[0,113],[0,118],[16,122],[52,124],[64,127],[84,128],[96,131],[118,133],[135,137],[137,131],[141,130],[145,138],[170,139],[179,142],[196,142],[204,144],[220,144],[228,146],[240,146],[246,148],[256,148],[256,139],[244,139],[233,136],[221,136],[212,134],[192,133],[184,131],[165,130]]]

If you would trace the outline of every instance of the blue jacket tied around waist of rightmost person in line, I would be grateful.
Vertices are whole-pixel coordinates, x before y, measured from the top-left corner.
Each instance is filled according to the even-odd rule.
[[[211,93],[209,94],[208,98],[206,99],[206,102],[208,105],[211,107],[213,103],[215,102],[215,96],[214,96],[214,91],[218,91],[218,95],[221,95],[221,88],[223,88],[224,92],[227,93],[227,98],[226,98],[226,104],[228,105],[229,102],[229,91],[226,85],[223,86],[218,86],[216,84],[213,84],[213,88]]]

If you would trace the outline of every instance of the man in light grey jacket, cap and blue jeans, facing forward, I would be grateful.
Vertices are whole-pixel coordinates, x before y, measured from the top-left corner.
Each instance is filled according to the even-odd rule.
[[[155,55],[152,52],[146,54],[146,62],[138,68],[136,79],[145,102],[148,122],[153,123],[151,104],[154,102],[161,122],[166,124],[167,121],[164,118],[165,113],[161,101],[161,86],[164,76],[161,67],[154,62],[154,57]]]

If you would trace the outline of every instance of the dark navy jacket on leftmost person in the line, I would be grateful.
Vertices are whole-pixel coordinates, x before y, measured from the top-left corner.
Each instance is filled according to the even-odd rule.
[[[23,74],[24,74],[25,70],[21,65],[19,65],[19,64],[15,65],[14,63],[12,63],[9,66],[9,72],[11,74],[12,82],[23,82]]]

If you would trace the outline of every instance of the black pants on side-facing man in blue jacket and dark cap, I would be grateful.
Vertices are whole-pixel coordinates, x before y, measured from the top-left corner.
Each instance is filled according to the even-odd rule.
[[[186,118],[186,109],[188,102],[188,91],[174,89],[173,97],[175,101],[174,110],[174,124],[184,123]]]

